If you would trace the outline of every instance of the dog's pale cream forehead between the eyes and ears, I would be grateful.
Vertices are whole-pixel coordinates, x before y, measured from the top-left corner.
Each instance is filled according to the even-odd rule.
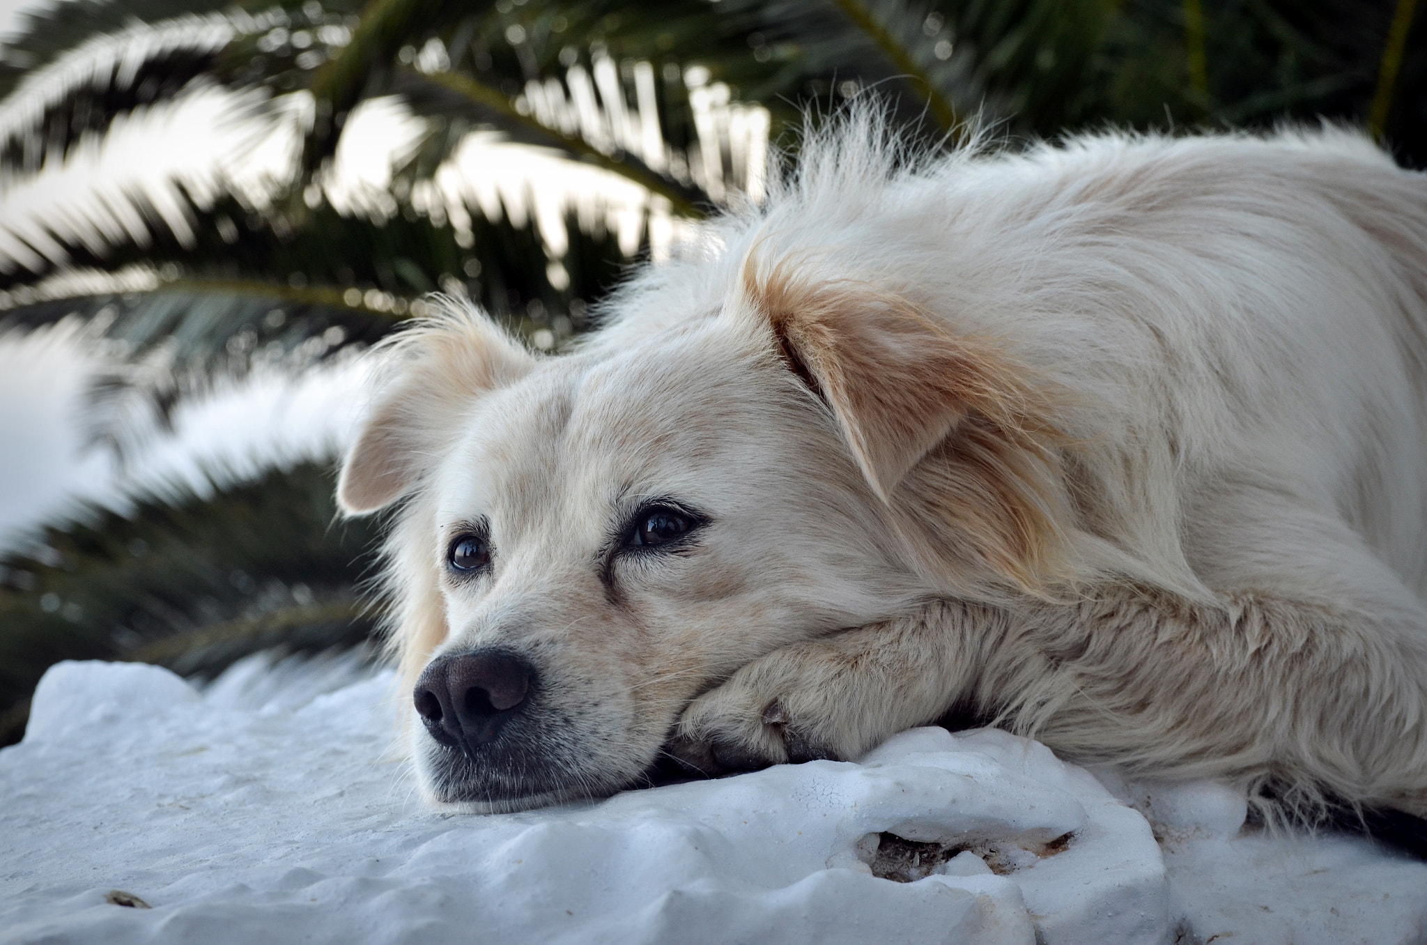
[[[666,333],[551,358],[492,391],[440,477],[442,514],[602,518],[621,495],[686,494],[721,465],[746,465],[771,433],[776,384],[736,341]]]

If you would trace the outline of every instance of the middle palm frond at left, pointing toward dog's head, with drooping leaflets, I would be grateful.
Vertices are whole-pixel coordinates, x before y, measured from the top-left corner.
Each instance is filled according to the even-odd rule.
[[[120,460],[215,380],[254,367],[301,371],[371,344],[435,290],[554,347],[585,324],[628,258],[614,234],[574,211],[558,258],[531,220],[477,217],[458,230],[410,201],[387,220],[325,203],[258,214],[233,197],[188,214],[187,244],[150,220],[143,244],[104,254],[66,246],[86,268],[0,290],[0,333],[78,318],[106,340],[114,365],[93,381],[87,434]]]

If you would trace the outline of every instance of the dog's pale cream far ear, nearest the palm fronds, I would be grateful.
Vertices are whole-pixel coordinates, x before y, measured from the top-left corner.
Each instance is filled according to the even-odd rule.
[[[457,308],[414,321],[374,355],[382,380],[337,481],[337,502],[348,515],[407,495],[461,431],[471,405],[535,364],[492,321]]]

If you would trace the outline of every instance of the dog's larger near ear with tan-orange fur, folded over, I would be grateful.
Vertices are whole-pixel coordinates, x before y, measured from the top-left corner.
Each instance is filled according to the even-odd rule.
[[[970,558],[1036,594],[1060,581],[1065,438],[1029,371],[896,294],[796,276],[808,268],[761,271],[749,256],[743,291],[919,557],[938,570]]]

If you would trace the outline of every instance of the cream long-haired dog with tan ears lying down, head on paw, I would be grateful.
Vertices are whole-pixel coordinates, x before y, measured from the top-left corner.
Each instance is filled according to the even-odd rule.
[[[571,351],[448,303],[338,501],[425,795],[495,812],[972,715],[1427,814],[1427,178],[1359,133],[829,121]]]

